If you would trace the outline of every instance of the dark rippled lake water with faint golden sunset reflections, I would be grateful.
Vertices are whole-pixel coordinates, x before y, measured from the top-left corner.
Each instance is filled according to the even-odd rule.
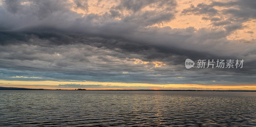
[[[256,92],[0,90],[0,126],[256,126]]]

